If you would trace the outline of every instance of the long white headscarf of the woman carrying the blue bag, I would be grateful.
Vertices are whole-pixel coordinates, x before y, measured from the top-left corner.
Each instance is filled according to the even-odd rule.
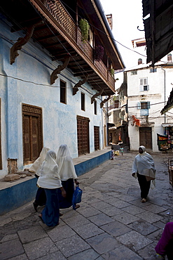
[[[60,178],[67,181],[69,178],[78,178],[74,169],[74,162],[71,158],[67,145],[60,145],[57,152],[57,165],[59,167]]]

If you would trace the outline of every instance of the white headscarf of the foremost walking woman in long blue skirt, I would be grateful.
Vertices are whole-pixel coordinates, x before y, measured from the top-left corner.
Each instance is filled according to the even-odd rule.
[[[58,166],[55,160],[56,153],[53,150],[48,150],[46,158],[41,166],[41,176],[37,181],[39,187],[48,189],[62,187]]]

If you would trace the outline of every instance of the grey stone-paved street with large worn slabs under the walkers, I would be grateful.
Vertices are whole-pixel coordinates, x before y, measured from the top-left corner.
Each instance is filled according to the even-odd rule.
[[[151,154],[156,188],[142,204],[131,176],[137,153],[128,152],[80,176],[81,207],[61,210],[60,225],[48,228],[32,202],[0,216],[0,259],[141,260],[151,256],[165,223],[173,221],[169,154]]]

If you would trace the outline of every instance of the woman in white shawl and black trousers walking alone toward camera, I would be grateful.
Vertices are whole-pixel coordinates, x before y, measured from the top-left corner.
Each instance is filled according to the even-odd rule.
[[[155,166],[151,155],[146,152],[144,145],[139,146],[139,155],[134,158],[132,176],[138,179],[141,189],[141,202],[146,202],[150,190],[151,181],[155,186]]]

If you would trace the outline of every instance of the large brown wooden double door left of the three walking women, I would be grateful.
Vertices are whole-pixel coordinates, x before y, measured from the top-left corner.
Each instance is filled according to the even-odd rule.
[[[23,160],[30,164],[39,157],[43,148],[42,110],[22,104]]]

